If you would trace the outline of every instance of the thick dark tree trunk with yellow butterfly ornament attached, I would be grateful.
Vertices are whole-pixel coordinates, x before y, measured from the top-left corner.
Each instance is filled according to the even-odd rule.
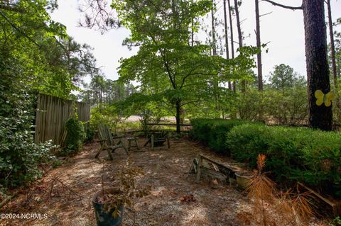
[[[303,0],[305,56],[308,81],[309,126],[332,130],[332,107],[316,105],[315,91],[330,91],[327,31],[323,0]]]

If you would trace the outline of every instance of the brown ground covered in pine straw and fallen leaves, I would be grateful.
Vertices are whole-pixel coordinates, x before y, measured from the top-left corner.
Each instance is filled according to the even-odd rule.
[[[140,147],[144,142],[140,138]],[[0,209],[0,213],[47,214],[46,218],[0,220],[0,225],[96,225],[91,198],[102,188],[101,175],[106,186],[112,172],[127,159],[123,149],[117,149],[112,162],[106,152],[94,159],[98,149],[97,143],[85,145],[80,154],[48,171]],[[185,138],[171,140],[170,149],[166,145],[156,147],[153,152],[149,147],[141,149],[144,152],[131,152],[129,159],[144,169],[146,174],[138,185],[151,185],[151,194],[136,200],[134,208],[125,208],[122,225],[248,225],[239,218],[250,211],[249,200],[236,186],[211,186],[207,181],[195,183],[193,174],[187,177],[190,164],[199,152],[229,159],[222,159]],[[191,195],[192,201],[181,201],[183,196]]]

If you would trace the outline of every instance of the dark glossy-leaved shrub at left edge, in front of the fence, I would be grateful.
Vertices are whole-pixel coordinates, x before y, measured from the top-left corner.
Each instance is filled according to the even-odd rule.
[[[10,67],[10,65],[9,65]],[[1,68],[1,74],[10,71]],[[0,185],[18,186],[40,176],[38,166],[50,159],[49,142],[34,143],[34,99],[22,81],[0,84]]]

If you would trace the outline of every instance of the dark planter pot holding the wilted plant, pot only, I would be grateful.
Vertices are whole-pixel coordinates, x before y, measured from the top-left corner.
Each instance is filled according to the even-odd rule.
[[[104,193],[118,193],[119,190],[115,188],[109,188],[105,189]],[[94,197],[92,198],[92,206],[94,207],[94,213],[96,215],[96,221],[98,226],[119,226],[122,223],[123,218],[123,210],[124,205],[119,205],[119,212],[121,212],[121,215],[114,218],[112,216],[112,213],[114,212],[114,209],[107,211],[107,209],[104,209],[104,204],[97,203],[97,198],[99,196],[102,196],[102,191],[98,191],[94,194]]]

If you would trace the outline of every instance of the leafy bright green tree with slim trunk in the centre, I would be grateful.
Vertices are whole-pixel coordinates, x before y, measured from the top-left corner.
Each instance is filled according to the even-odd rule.
[[[175,109],[177,132],[184,106],[200,103],[205,94],[217,100],[215,84],[233,78],[232,66],[237,68],[236,77],[254,66],[249,59],[254,48],[241,49],[239,58],[232,61],[210,56],[210,46],[188,43],[191,31],[198,30],[192,22],[210,12],[212,1],[114,0],[112,7],[121,24],[131,30],[125,45],[139,45],[137,55],[121,60],[121,81],[139,81],[144,94]]]

